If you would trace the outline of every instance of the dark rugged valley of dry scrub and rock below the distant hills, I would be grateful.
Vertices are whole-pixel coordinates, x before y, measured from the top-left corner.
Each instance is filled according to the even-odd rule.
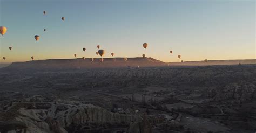
[[[256,65],[10,66],[0,69],[0,131],[255,132],[255,89]]]

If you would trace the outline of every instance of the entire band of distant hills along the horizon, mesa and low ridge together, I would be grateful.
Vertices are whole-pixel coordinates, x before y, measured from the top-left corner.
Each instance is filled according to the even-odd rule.
[[[184,61],[184,62],[169,62],[165,63],[149,58],[104,58],[103,62],[99,61],[100,58],[95,58],[93,62],[89,58],[83,60],[78,59],[48,59],[48,60],[35,60],[25,62],[13,62],[11,65],[1,68],[3,69],[84,69],[84,68],[118,68],[118,67],[163,67],[163,66],[211,66],[211,65],[241,65],[256,64],[256,59],[251,60],[208,60],[205,61]]]

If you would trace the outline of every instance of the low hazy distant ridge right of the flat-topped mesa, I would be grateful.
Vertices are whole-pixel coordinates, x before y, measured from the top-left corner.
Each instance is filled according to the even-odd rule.
[[[238,65],[238,64],[256,64],[256,59],[250,60],[208,60],[205,61],[184,61],[169,62],[169,66],[211,66],[211,65]]]

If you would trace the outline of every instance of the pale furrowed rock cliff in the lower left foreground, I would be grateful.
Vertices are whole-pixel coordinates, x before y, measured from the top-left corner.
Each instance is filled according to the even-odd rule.
[[[67,132],[70,125],[129,124],[140,117],[112,113],[92,104],[13,103],[1,114],[1,132]]]

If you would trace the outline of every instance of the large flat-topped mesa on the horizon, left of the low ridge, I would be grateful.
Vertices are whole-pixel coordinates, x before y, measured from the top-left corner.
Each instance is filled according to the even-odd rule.
[[[153,67],[166,66],[165,62],[153,58],[104,58],[103,62],[100,58],[95,58],[93,62],[89,58],[79,59],[48,59],[34,60],[26,62],[13,62],[5,69],[83,69],[83,68],[114,68],[114,67]]]

